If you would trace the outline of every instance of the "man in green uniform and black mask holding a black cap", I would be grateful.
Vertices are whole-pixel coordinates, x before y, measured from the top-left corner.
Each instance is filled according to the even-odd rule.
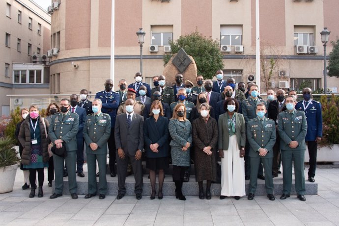
[[[68,189],[72,199],[78,199],[75,165],[78,149],[76,136],[79,128],[79,116],[77,113],[73,113],[69,110],[71,105],[68,99],[60,100],[60,106],[61,112],[52,116],[53,123],[49,127],[48,136],[58,149],[62,148],[62,146],[66,148],[67,156],[60,157],[57,154],[53,156],[56,189],[54,190],[53,195],[50,196],[50,199],[62,196],[63,163],[65,159],[68,170]]]

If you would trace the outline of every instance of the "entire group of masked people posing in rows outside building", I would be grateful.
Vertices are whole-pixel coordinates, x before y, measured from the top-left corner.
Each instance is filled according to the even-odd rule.
[[[48,166],[49,186],[54,179],[53,168],[55,172],[55,191],[50,199],[62,196],[65,160],[69,191],[71,197],[77,199],[76,174],[85,176],[85,143],[88,165],[85,199],[96,195],[105,199],[109,151],[110,176],[118,177],[116,199],[126,194],[125,179],[132,170],[136,198],[142,198],[141,160],[145,152],[152,188],[150,199],[155,199],[156,194],[158,199],[163,198],[169,162],[173,166],[177,199],[186,199],[182,186],[189,179],[192,162],[199,199],[211,199],[211,183],[217,180],[220,157],[220,199],[234,197],[239,200],[246,195],[245,180],[250,179],[248,200],[253,200],[259,178],[265,180],[268,199],[275,200],[273,178],[280,173],[281,162],[283,194],[280,199],[288,198],[293,162],[298,199],[305,201],[306,143],[310,152],[308,179],[314,182],[317,142],[322,137],[321,105],[311,99],[311,89],[303,90],[304,100],[299,102],[294,91],[287,96],[282,89],[277,93],[268,90],[266,101],[260,97],[254,83],[247,84],[245,92],[244,82],[239,82],[236,88],[234,78],[225,81],[222,70],[216,72],[216,77],[217,81],[212,82],[198,75],[194,86],[177,74],[175,84],[167,87],[164,75],[154,76],[151,89],[142,82],[141,73],[136,73],[135,82],[129,86],[121,79],[117,91],[113,91],[112,79],[107,79],[105,90],[96,93],[93,102],[88,100],[88,91],[83,89],[80,101],[78,95],[73,94],[59,104],[51,103],[46,118],[40,117],[35,105],[22,109],[23,122],[17,126],[17,135],[23,150],[22,169],[29,169],[29,176],[24,173],[23,189],[30,184],[29,197],[34,197],[37,172],[38,197],[42,197],[43,169]],[[50,150],[54,150],[53,157]],[[60,150],[63,150],[61,154]],[[97,164],[99,173],[96,173]],[[157,173],[158,191],[155,188]],[[203,181],[206,181],[205,191]]]

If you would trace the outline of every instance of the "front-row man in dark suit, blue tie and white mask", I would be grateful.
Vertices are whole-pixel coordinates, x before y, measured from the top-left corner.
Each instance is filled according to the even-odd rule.
[[[141,153],[143,150],[143,117],[134,113],[134,101],[127,99],[126,113],[116,116],[115,146],[117,148],[116,166],[118,171],[118,195],[117,200],[126,194],[125,180],[127,164],[130,160],[134,172],[135,194],[137,200],[142,194],[142,166]]]

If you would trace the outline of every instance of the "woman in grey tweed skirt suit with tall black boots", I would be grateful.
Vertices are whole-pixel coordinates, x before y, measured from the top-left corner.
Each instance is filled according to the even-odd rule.
[[[186,107],[183,103],[173,109],[173,117],[169,121],[171,141],[171,157],[173,165],[173,181],[175,183],[175,198],[186,200],[181,188],[184,182],[184,173],[190,166],[190,147],[192,144],[192,126],[186,119]]]

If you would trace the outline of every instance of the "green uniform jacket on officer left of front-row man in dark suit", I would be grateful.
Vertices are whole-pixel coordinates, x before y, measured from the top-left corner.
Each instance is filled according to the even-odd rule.
[[[107,140],[111,135],[111,117],[108,114],[100,113],[97,121],[95,121],[95,114],[86,116],[84,125],[84,139],[86,142],[87,154],[106,154]],[[93,151],[89,144],[95,143],[98,149]]]

